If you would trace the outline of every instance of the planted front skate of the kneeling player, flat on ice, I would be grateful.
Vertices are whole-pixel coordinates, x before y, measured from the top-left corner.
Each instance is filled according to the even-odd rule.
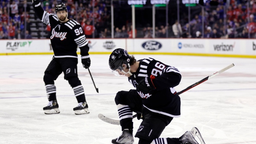
[[[133,130],[124,129],[121,135],[112,139],[112,144],[133,144]]]

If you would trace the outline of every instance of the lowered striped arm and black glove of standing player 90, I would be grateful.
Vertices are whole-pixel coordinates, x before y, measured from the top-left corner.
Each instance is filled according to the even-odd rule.
[[[81,50],[81,59],[82,64],[84,68],[89,68],[91,64],[90,56],[89,56],[89,47],[88,47],[88,41],[85,39],[85,34],[83,31],[83,28],[78,22],[74,20],[70,20],[67,22],[69,26],[72,27],[71,34],[78,45],[78,47]]]

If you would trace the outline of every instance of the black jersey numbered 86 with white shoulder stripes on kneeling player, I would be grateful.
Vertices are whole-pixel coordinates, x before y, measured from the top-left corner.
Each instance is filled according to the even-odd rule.
[[[181,80],[177,68],[168,66],[152,58],[139,60],[139,68],[128,78],[133,87],[147,76],[155,76],[153,80],[156,90],[143,94],[137,89],[137,94],[142,97],[143,106],[149,111],[160,113],[173,118],[180,117],[180,97],[173,87]]]

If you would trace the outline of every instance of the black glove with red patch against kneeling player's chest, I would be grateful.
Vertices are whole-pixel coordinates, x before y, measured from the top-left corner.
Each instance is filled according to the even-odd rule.
[[[151,75],[150,77],[147,76],[145,79],[141,80],[140,83],[137,86],[137,89],[141,91],[143,94],[148,94],[151,90],[155,90],[156,87],[154,86],[154,83],[152,80],[154,80],[156,77]]]

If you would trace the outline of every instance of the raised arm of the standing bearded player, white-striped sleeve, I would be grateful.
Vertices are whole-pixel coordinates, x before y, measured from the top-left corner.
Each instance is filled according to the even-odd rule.
[[[58,18],[55,16],[55,14],[50,14],[43,10],[41,7],[40,0],[32,0],[32,5],[34,7],[36,16],[43,21],[44,24],[47,24],[50,26],[51,19],[55,19],[56,21],[59,21]]]

